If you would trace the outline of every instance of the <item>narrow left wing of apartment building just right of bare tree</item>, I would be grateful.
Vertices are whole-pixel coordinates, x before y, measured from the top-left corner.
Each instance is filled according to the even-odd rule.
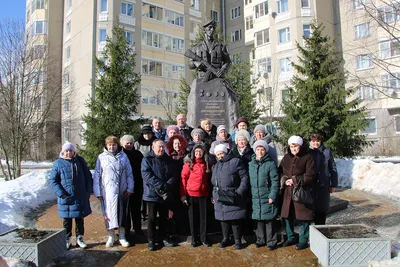
[[[40,68],[39,86],[46,88],[38,104],[38,113],[53,101],[53,108],[45,120],[41,135],[37,140],[31,140],[29,155],[36,160],[55,158],[59,153],[61,143],[61,99],[53,99],[59,94],[61,80],[62,51],[62,3],[63,0],[28,0],[26,1],[26,31],[28,44],[32,46],[36,62],[33,66]],[[45,56],[47,55],[47,56]],[[40,61],[40,62],[39,62]],[[34,104],[34,103],[32,103]],[[35,103],[37,104],[37,103]],[[41,115],[37,114],[36,118]],[[35,127],[35,121],[30,122]],[[56,145],[55,145],[56,144]]]

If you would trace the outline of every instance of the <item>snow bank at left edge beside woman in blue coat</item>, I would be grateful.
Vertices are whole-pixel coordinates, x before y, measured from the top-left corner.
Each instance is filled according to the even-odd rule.
[[[25,217],[57,197],[48,183],[50,170],[35,170],[0,186],[0,232],[11,226],[26,226]],[[1,229],[3,228],[3,229]]]

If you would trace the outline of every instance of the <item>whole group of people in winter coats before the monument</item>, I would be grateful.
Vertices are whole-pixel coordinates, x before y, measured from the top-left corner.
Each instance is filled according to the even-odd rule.
[[[247,119],[239,118],[229,134],[224,125],[217,127],[204,119],[193,129],[179,114],[177,125],[166,129],[157,118],[151,126],[143,126],[136,142],[131,135],[120,140],[108,136],[93,177],[73,144],[64,144],[49,180],[58,196],[67,248],[71,246],[72,218],[77,245],[86,247],[83,218],[91,213],[89,196],[93,193],[101,203],[108,231],[106,247],[114,245],[115,230],[121,246],[130,246],[128,234],[133,230],[143,235],[141,220],[146,216],[151,251],[157,245],[176,245],[166,229],[169,218],[179,229],[189,225],[193,247],[209,247],[212,203],[213,217],[222,230],[220,248],[234,244],[241,249],[243,231],[251,228],[256,247],[276,249],[280,217],[287,236],[282,246],[296,245],[301,250],[309,246],[310,224],[325,224],[337,170],[318,133],[309,137],[309,143],[300,136],[290,137],[278,165],[265,126],[257,125],[251,131]],[[299,240],[295,220],[301,224]]]

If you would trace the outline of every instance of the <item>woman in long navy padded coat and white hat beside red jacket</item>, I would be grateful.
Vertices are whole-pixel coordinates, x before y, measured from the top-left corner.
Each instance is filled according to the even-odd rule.
[[[241,249],[241,222],[246,218],[246,194],[249,189],[249,176],[240,159],[227,155],[225,145],[217,145],[214,149],[217,163],[212,167],[211,183],[215,219],[221,221],[223,239],[220,248],[229,245],[229,228],[235,238],[235,248]],[[232,196],[230,203],[223,201],[224,195]]]

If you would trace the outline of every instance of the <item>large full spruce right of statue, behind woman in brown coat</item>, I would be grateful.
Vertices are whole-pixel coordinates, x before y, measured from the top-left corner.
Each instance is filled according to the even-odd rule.
[[[334,42],[322,33],[322,24],[311,25],[312,36],[305,47],[297,44],[299,64],[292,64],[296,75],[282,103],[285,117],[280,122],[280,141],[286,145],[291,135],[308,138],[318,132],[338,157],[354,156],[368,143],[360,130],[368,125],[360,99],[352,98],[354,88],[345,88],[341,70],[343,58]]]

